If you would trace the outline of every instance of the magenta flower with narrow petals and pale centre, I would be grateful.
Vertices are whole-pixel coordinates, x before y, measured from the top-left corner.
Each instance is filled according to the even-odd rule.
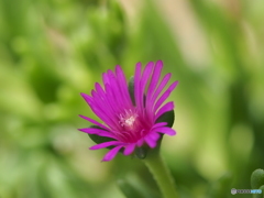
[[[99,150],[111,146],[102,161],[111,161],[121,148],[124,155],[132,154],[135,147],[144,144],[154,148],[162,134],[176,134],[172,128],[167,127],[167,122],[157,123],[161,116],[174,109],[174,102],[170,101],[164,106],[163,103],[178,84],[174,81],[162,94],[172,76],[170,73],[166,74],[158,82],[162,68],[162,61],[157,61],[156,64],[150,62],[142,74],[141,63],[138,63],[133,96],[130,96],[125,76],[119,65],[116,67],[116,73],[108,70],[102,74],[103,87],[96,82],[91,96],[81,94],[103,123],[80,116],[96,128],[85,128],[79,131],[110,138],[110,141],[90,147],[90,150]]]

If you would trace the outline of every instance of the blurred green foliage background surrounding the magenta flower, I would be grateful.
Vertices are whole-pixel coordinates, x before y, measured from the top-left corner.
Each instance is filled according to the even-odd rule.
[[[101,73],[163,59],[179,85],[162,153],[183,197],[229,197],[264,167],[264,1],[0,0],[0,197],[161,197],[144,164],[78,128]],[[121,179],[121,180],[120,180]],[[139,196],[132,196],[139,197]],[[240,195],[250,197],[250,195]]]

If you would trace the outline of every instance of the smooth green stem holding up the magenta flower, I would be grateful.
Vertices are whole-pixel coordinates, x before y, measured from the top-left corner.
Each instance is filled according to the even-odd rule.
[[[160,152],[153,152],[151,155],[147,155],[143,161],[153,174],[156,183],[158,184],[163,197],[178,198],[174,180],[169,174],[167,166],[163,162]]]

